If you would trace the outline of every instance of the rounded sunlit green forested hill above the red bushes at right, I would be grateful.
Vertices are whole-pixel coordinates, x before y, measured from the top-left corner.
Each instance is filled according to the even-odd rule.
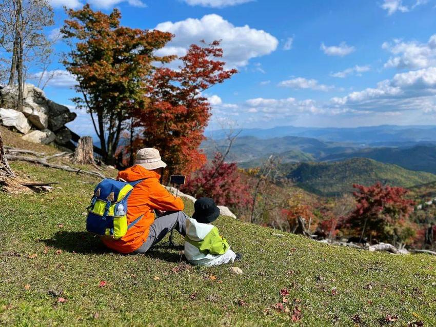
[[[412,187],[436,181],[436,175],[406,170],[367,158],[339,162],[304,162],[283,167],[296,185],[320,195],[352,191],[353,183],[372,185],[377,181],[391,186]]]

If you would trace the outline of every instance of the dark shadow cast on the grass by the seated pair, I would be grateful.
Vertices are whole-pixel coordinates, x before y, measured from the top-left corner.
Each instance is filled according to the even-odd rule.
[[[113,252],[105,247],[98,236],[92,235],[88,232],[69,232],[59,231],[54,234],[52,238],[42,239],[48,247],[61,249],[62,251],[80,254],[105,254]],[[150,258],[161,259],[168,262],[179,263],[184,261],[185,257],[179,253],[184,249],[183,245],[176,245],[170,247],[168,244],[159,243],[152,247],[147,253],[143,254]],[[174,252],[177,251],[177,252]],[[132,254],[137,255],[137,254]]]

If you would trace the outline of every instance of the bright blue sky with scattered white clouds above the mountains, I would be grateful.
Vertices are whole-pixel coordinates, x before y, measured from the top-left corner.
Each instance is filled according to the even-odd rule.
[[[51,0],[56,34],[80,0]],[[284,125],[355,127],[436,124],[436,0],[93,0],[121,10],[122,24],[175,34],[164,53],[222,39],[239,73],[207,91],[209,129]],[[56,50],[65,50],[62,42]],[[61,65],[45,92],[72,105]],[[37,72],[35,72],[37,73]],[[70,124],[92,130],[86,113]]]

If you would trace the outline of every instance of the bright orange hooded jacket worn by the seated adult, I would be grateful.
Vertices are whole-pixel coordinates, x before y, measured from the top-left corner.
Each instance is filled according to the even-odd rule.
[[[143,179],[138,183],[127,199],[127,223],[137,217],[144,217],[131,227],[127,234],[118,240],[103,239],[106,246],[121,253],[130,253],[139,249],[147,240],[150,225],[154,221],[154,209],[160,211],[180,211],[184,209],[181,198],[170,194],[159,182],[161,175],[135,165],[118,173],[118,178],[126,181]]]

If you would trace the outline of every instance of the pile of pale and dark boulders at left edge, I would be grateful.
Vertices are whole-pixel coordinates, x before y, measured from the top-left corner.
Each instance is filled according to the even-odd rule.
[[[27,134],[23,139],[36,143],[48,144],[55,141],[65,145],[70,141],[71,131],[65,124],[74,120],[75,113],[49,100],[44,91],[31,84],[25,85],[24,105],[17,111],[17,93],[16,87],[0,86],[0,124],[14,127]]]

